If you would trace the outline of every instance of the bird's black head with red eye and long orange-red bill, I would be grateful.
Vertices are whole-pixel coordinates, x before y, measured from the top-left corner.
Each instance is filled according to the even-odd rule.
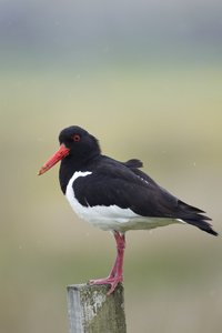
[[[67,157],[83,161],[100,154],[98,140],[80,127],[72,125],[62,130],[59,142],[59,150],[43,164],[38,174],[44,173]]]

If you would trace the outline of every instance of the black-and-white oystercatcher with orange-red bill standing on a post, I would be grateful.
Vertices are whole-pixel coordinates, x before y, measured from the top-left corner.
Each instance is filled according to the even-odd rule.
[[[138,159],[120,162],[102,154],[100,143],[87,130],[71,125],[59,134],[59,150],[43,164],[39,175],[61,161],[61,191],[79,218],[114,235],[117,258],[104,279],[108,294],[123,282],[125,232],[188,223],[216,236],[205,212],[178,199],[141,171]]]

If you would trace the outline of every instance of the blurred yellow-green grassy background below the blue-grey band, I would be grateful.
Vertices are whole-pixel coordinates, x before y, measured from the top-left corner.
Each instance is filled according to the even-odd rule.
[[[65,285],[108,274],[114,242],[77,220],[58,170],[37,171],[79,124],[221,228],[221,67],[4,71],[1,99],[2,332],[65,332]],[[222,245],[173,225],[127,235],[128,332],[221,332]]]

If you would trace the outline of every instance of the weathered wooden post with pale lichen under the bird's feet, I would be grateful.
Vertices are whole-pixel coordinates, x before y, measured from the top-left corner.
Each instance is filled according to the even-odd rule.
[[[127,333],[123,286],[68,285],[70,333]]]

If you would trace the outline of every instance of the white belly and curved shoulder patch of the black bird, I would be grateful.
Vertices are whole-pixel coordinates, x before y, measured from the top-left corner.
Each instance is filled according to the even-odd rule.
[[[145,218],[135,214],[130,209],[121,209],[117,205],[95,205],[95,206],[83,206],[74,196],[72,183],[79,176],[87,176],[92,172],[74,172],[70,179],[65,196],[72,206],[73,211],[81,219],[88,221],[90,224],[98,226],[102,230],[115,230],[119,232],[125,232],[128,230],[149,230],[157,226],[163,226],[171,223],[178,223],[180,221],[172,219],[161,218]],[[182,221],[181,221],[182,222]]]

